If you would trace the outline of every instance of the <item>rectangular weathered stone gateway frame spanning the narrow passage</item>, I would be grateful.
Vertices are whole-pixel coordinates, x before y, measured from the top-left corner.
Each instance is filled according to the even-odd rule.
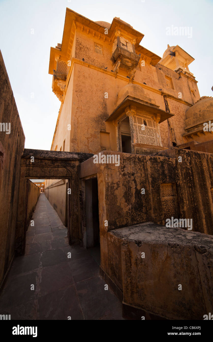
[[[59,152],[24,149],[21,158],[21,173],[16,221],[17,254],[24,254],[27,230],[27,179],[68,179],[68,240],[69,244],[82,239],[81,189],[78,166],[92,157],[89,153]]]

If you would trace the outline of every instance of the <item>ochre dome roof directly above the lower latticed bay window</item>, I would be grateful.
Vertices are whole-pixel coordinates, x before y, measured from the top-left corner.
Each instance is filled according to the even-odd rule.
[[[139,86],[138,84],[128,83],[118,92],[117,105],[120,104],[128,95],[138,98],[139,100],[155,104],[154,100],[151,100],[146,96],[145,91],[141,86]]]

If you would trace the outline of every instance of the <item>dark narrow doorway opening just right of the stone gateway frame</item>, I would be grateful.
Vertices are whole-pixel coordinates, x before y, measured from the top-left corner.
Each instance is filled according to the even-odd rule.
[[[100,246],[98,182],[97,178],[85,181],[86,192],[86,247]]]

